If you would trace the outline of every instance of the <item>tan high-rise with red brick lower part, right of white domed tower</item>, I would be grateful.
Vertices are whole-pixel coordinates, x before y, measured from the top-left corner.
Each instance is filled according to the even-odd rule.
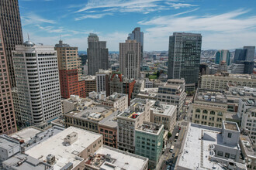
[[[81,80],[81,59],[78,47],[64,44],[62,40],[55,45],[60,74],[61,97],[69,98],[72,94],[85,97],[85,80]]]

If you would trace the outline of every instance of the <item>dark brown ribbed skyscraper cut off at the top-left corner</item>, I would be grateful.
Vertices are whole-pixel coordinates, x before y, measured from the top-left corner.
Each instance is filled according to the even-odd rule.
[[[11,87],[16,87],[12,51],[15,50],[16,45],[23,43],[18,0],[0,1],[0,25]]]

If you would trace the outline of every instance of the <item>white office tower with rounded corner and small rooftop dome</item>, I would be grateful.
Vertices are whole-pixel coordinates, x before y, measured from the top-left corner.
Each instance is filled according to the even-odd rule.
[[[54,46],[26,41],[12,52],[17,82],[18,124],[45,128],[61,116],[61,91]]]

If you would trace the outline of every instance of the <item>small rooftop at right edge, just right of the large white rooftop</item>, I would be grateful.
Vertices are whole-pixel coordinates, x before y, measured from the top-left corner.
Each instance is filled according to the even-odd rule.
[[[242,144],[241,147],[244,148],[244,151],[246,153],[246,155],[244,156],[256,159],[256,149],[253,141],[251,141],[251,139],[248,136],[241,135],[241,134],[240,134],[240,141]]]

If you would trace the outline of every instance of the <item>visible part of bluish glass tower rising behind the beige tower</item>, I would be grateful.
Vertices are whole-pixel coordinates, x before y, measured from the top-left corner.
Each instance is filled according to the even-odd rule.
[[[132,33],[128,35],[128,38],[130,40],[136,40],[137,42],[140,42],[141,46],[141,53],[140,53],[140,66],[143,64],[143,52],[144,52],[144,32],[140,32],[140,27],[137,27],[133,30]]]

